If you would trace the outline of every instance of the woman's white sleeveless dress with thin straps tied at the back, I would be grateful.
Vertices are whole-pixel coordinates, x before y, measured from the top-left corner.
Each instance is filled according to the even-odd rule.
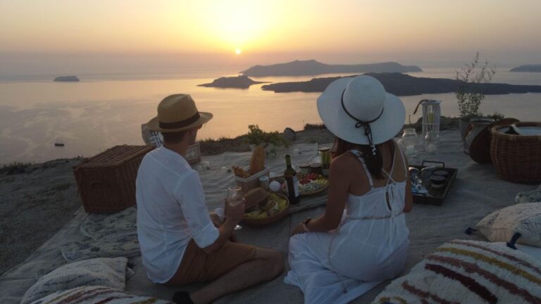
[[[400,151],[396,148],[395,154],[396,150]],[[374,187],[360,152],[352,153],[361,161],[371,189],[362,196],[349,194],[337,229],[290,239],[291,270],[284,281],[299,286],[304,303],[347,303],[404,269],[409,244],[402,212],[406,182],[391,177],[396,155],[391,172],[384,170],[387,186]]]

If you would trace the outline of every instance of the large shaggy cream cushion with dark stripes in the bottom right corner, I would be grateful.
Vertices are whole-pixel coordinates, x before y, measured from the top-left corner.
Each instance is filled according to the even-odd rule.
[[[505,243],[454,240],[373,303],[541,303],[541,262]]]

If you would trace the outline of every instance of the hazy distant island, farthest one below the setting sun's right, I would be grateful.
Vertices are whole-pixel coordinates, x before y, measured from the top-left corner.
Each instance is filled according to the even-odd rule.
[[[249,77],[266,76],[311,76],[336,73],[364,73],[364,72],[422,72],[416,65],[401,65],[399,63],[371,63],[359,65],[328,65],[315,60],[292,61],[275,65],[255,65],[242,71],[242,75]]]

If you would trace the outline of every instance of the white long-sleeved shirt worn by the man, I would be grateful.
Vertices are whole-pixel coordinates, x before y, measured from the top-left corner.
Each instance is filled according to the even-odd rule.
[[[180,154],[163,146],[144,156],[136,182],[137,237],[147,276],[169,281],[190,239],[199,248],[218,239],[199,175]]]

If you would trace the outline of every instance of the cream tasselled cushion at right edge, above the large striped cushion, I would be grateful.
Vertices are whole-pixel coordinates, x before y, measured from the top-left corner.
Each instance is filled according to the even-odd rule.
[[[541,247],[541,203],[520,203],[496,210],[477,224],[492,242],[509,241],[517,232],[517,243]]]

